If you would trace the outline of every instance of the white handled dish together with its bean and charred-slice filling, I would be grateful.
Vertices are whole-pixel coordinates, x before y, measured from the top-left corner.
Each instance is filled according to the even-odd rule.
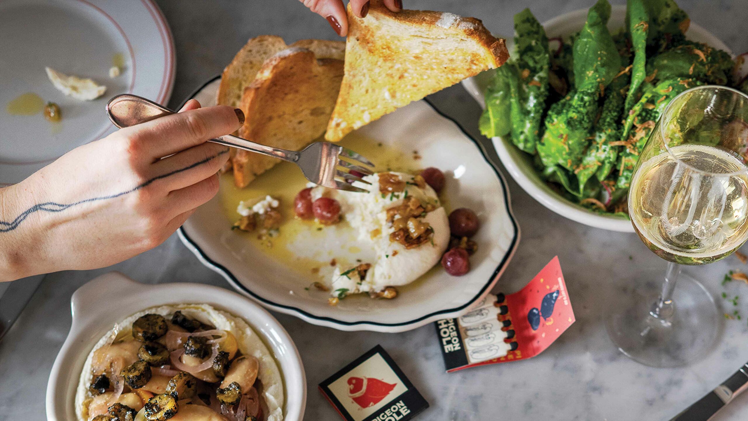
[[[236,292],[145,285],[110,272],[80,287],[71,304],[73,324],[47,384],[48,420],[304,417],[307,384],[295,345],[270,313]]]

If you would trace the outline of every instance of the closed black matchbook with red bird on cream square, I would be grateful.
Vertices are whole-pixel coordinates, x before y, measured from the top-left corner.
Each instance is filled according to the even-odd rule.
[[[319,384],[348,421],[405,421],[429,407],[380,345]]]

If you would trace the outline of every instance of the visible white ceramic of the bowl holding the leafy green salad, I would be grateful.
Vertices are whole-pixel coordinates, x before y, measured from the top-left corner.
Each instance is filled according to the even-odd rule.
[[[613,6],[610,21],[608,22],[608,28],[610,28],[611,31],[619,30],[625,25],[625,17],[626,7],[624,5]],[[549,38],[568,37],[569,34],[579,31],[584,26],[586,18],[586,9],[576,10],[545,22],[543,27]],[[707,43],[710,46],[730,52],[722,41],[693,22],[691,22],[690,28],[687,31],[687,37],[690,40]],[[509,45],[511,51],[513,47],[512,37],[506,38],[509,44],[512,44]],[[510,52],[510,54],[512,53]],[[473,96],[473,98],[483,108],[485,108],[483,94],[485,93],[485,87],[488,86],[488,80],[492,75],[492,71],[483,72],[478,76],[466,79],[462,82],[465,89],[468,90],[468,93],[470,93],[470,95]],[[530,196],[542,203],[543,206],[551,209],[559,215],[565,216],[566,218],[577,221],[581,224],[589,225],[590,227],[621,231],[624,233],[634,232],[634,228],[631,226],[631,221],[629,221],[628,218],[613,215],[601,215],[592,212],[583,206],[579,206],[576,203],[566,200],[564,197],[560,196],[560,194],[553,191],[533,167],[533,162],[532,159],[530,159],[530,156],[515,147],[515,145],[512,144],[511,138],[497,137],[491,139],[491,141],[494,144],[494,148],[496,149],[496,153],[499,156],[501,163],[504,165],[506,170],[509,171],[509,174],[512,175],[517,184],[524,188],[524,191],[527,191]]]

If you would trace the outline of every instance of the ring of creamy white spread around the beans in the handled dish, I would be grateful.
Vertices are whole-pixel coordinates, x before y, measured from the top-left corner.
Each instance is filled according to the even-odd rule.
[[[243,319],[233,316],[223,310],[215,309],[208,304],[174,304],[161,307],[151,307],[141,312],[135,313],[124,319],[108,331],[88,354],[83,366],[78,390],[76,391],[76,416],[78,421],[88,421],[85,417],[88,414],[88,408],[85,408],[86,399],[89,397],[88,385],[93,380],[91,366],[93,364],[93,351],[107,345],[112,337],[116,337],[122,332],[130,331],[132,322],[135,322],[140,316],[145,314],[160,314],[170,316],[175,311],[180,310],[185,316],[191,319],[197,319],[200,322],[213,325],[221,331],[229,331],[236,337],[239,350],[242,354],[252,355],[260,361],[260,370],[257,372],[257,378],[263,384],[263,399],[268,405],[268,421],[283,421],[283,379],[281,370],[278,369],[278,363],[275,361],[272,352],[267,348],[265,343],[257,333]]]

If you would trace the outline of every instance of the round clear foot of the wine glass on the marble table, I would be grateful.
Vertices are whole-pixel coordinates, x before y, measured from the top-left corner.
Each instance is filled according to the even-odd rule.
[[[660,275],[661,276],[661,275]],[[656,278],[655,278],[656,279]],[[633,293],[616,297],[606,318],[610,339],[632,360],[652,367],[687,366],[714,349],[720,315],[711,294],[681,273],[668,322],[650,315],[660,283],[638,283]]]

